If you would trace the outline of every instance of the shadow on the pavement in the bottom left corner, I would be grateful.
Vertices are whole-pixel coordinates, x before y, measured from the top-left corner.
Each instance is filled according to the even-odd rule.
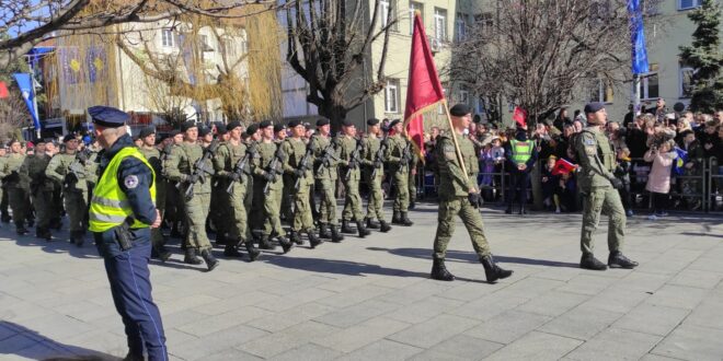
[[[0,358],[30,360],[120,360],[120,358],[82,347],[54,341],[36,330],[0,321]]]

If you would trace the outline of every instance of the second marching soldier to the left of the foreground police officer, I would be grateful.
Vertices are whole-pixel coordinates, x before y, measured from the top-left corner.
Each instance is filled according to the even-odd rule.
[[[53,210],[53,182],[45,177],[45,170],[50,156],[45,152],[46,142],[39,140],[35,144],[35,153],[25,158],[20,173],[30,180],[30,197],[35,207],[35,236],[50,241],[50,218]]]

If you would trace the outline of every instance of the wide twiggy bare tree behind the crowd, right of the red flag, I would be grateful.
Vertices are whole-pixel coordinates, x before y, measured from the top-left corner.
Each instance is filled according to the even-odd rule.
[[[645,1],[646,14],[656,2]],[[589,84],[630,81],[624,0],[495,1],[485,11],[454,46],[455,59],[466,61],[451,61],[450,78],[482,96],[512,101],[532,121]]]

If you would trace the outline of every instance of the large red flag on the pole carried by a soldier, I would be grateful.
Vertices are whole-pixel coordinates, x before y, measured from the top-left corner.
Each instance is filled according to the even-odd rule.
[[[445,101],[445,94],[437,75],[437,67],[429,50],[424,23],[418,12],[414,13],[414,33],[410,55],[410,77],[406,86],[404,129],[420,155],[424,154],[424,123],[422,114]],[[420,156],[424,160],[424,156]]]

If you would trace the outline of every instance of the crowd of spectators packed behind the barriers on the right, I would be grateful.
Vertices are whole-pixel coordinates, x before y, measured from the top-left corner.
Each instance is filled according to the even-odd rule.
[[[571,117],[566,108],[554,119],[537,123],[527,129],[535,141],[539,172],[530,182],[538,182],[542,203],[549,211],[573,212],[579,209],[581,195],[575,172],[556,172],[558,162],[576,164],[576,136],[586,126],[584,116],[575,110]],[[503,174],[506,167],[505,148],[518,129],[496,124],[473,123],[469,137],[478,149],[480,176],[478,184],[485,200],[501,200]],[[723,175],[723,110],[715,114],[668,112],[665,101],[635,115],[632,106],[623,119],[608,119],[606,131],[616,151],[615,172],[623,182],[620,195],[628,216],[633,208],[652,206],[651,219],[665,217],[667,210],[701,210],[703,200],[703,166],[711,162],[711,172]],[[434,170],[437,127],[425,135],[426,168]],[[507,150],[508,151],[508,150]],[[719,164],[721,166],[719,166]],[[507,187],[505,182],[505,187]],[[714,179],[712,194],[723,184]],[[531,191],[531,184],[528,191]],[[509,191],[505,189],[505,191]],[[531,198],[529,198],[531,199]]]

